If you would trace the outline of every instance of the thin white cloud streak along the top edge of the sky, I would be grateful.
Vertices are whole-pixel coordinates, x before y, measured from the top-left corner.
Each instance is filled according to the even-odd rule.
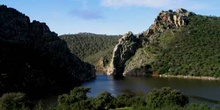
[[[106,7],[130,7],[142,6],[159,9],[204,9],[208,5],[201,1],[192,0],[101,0],[101,4]]]

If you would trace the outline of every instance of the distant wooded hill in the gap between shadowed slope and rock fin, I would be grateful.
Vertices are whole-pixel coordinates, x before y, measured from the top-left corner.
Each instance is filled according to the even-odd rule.
[[[78,33],[59,36],[67,42],[71,52],[97,68],[106,67],[120,35]]]

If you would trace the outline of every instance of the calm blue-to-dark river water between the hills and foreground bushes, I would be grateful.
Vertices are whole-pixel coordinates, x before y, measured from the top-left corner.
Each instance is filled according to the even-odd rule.
[[[82,86],[91,88],[88,96],[92,97],[97,96],[102,91],[118,95],[128,89],[148,92],[153,88],[171,87],[190,96],[191,102],[205,101],[211,105],[216,100],[220,101],[220,81],[159,77],[126,77],[115,80],[107,75],[97,75],[95,80],[85,82]]]

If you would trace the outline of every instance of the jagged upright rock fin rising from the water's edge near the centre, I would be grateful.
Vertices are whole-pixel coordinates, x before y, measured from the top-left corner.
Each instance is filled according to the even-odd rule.
[[[113,57],[107,74],[121,77],[126,61],[135,54],[140,44],[139,38],[133,35],[132,32],[124,34],[113,50]]]

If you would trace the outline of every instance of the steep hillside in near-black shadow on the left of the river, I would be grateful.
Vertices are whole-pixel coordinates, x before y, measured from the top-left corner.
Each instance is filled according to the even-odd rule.
[[[95,78],[45,23],[0,6],[0,92],[46,92]]]

